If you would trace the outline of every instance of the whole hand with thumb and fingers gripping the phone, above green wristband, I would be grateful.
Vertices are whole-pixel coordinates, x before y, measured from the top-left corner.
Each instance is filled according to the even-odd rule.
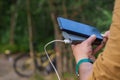
[[[73,55],[76,59],[76,62],[78,62],[82,58],[91,58],[92,60],[95,60],[95,57],[93,55],[104,47],[105,43],[107,42],[107,39],[109,38],[109,35],[110,32],[106,31],[103,35],[104,39],[102,43],[98,45],[94,50],[92,48],[92,43],[96,39],[95,35],[92,35],[80,44],[72,45]]]

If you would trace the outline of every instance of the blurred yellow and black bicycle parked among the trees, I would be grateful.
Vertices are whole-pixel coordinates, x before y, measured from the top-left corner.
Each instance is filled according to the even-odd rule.
[[[56,66],[55,52],[48,51],[53,64]],[[49,74],[54,72],[53,67],[51,66],[48,58],[45,54],[35,54],[35,69],[40,73]],[[21,54],[14,59],[13,63],[14,71],[22,77],[30,77],[34,74],[32,58],[29,54]]]

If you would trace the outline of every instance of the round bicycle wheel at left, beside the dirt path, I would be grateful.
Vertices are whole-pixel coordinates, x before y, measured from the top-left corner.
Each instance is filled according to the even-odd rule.
[[[32,58],[30,58],[29,54],[22,54],[15,58],[13,68],[19,76],[30,77],[35,71],[33,65]],[[35,67],[36,66],[37,62],[35,60]]]

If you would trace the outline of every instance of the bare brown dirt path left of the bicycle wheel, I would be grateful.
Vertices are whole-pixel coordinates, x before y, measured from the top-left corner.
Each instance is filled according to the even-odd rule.
[[[4,55],[0,55],[0,80],[30,80],[22,78],[14,72],[13,59],[13,56],[7,59]]]

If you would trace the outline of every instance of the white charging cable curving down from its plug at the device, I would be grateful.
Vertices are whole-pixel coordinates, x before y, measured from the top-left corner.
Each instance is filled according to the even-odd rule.
[[[45,53],[46,53],[46,56],[47,56],[48,60],[50,61],[50,64],[52,65],[53,69],[55,70],[55,73],[56,73],[56,75],[57,75],[58,80],[61,80],[61,79],[60,79],[60,76],[59,76],[59,74],[58,74],[58,71],[57,71],[57,69],[55,68],[54,64],[52,63],[52,60],[50,59],[50,57],[49,57],[49,55],[48,55],[48,53],[47,53],[47,50],[46,50],[47,46],[48,46],[49,44],[53,43],[53,42],[63,42],[63,43],[65,43],[65,44],[69,44],[69,43],[71,43],[71,41],[68,40],[68,39],[65,39],[65,40],[53,40],[53,41],[48,42],[48,43],[44,46],[44,51],[45,51]]]

